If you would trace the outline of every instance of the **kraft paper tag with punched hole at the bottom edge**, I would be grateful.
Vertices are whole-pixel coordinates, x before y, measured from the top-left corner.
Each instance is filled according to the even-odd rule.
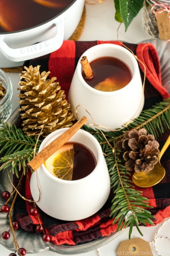
[[[120,255],[120,256],[122,255],[153,256],[152,250],[150,248],[150,244],[139,237],[123,241],[119,245],[119,248],[117,249],[116,253],[117,255]]]

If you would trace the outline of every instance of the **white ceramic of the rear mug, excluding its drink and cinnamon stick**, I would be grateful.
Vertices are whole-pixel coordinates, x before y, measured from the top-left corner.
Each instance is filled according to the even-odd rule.
[[[117,58],[127,64],[132,73],[132,79],[120,90],[113,92],[96,90],[89,86],[82,77],[80,63],[82,56],[87,56],[89,62],[106,56]],[[77,64],[68,95],[74,116],[76,116],[76,107],[83,105],[97,125],[110,130],[121,128],[134,116],[137,117],[142,111],[144,97],[142,96],[142,81],[138,63],[132,53],[116,44],[99,44],[88,49],[82,56]],[[82,116],[87,116],[88,122],[93,124],[91,116],[87,115],[84,108],[79,107],[78,118],[80,119]]]

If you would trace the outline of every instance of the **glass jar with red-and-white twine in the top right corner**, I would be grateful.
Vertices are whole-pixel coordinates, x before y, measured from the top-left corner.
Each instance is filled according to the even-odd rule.
[[[170,7],[170,0],[144,0],[142,24],[148,35],[152,38],[160,39],[158,23],[155,14],[151,10],[155,3]],[[155,11],[157,11],[158,8],[159,7],[155,7]]]

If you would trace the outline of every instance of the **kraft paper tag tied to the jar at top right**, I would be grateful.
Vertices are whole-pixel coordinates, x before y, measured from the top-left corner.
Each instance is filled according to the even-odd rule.
[[[161,12],[161,9],[159,12]],[[164,11],[156,15],[157,23],[158,23],[158,30],[159,30],[159,37],[161,40],[169,40],[170,39],[170,19],[169,13]]]

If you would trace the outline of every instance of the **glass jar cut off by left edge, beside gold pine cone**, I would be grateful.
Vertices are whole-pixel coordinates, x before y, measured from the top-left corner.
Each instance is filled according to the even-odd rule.
[[[2,86],[5,90],[5,96],[0,100],[0,120],[6,122],[11,115],[12,105],[12,84],[11,80],[8,78],[5,72],[0,69],[0,86]]]

